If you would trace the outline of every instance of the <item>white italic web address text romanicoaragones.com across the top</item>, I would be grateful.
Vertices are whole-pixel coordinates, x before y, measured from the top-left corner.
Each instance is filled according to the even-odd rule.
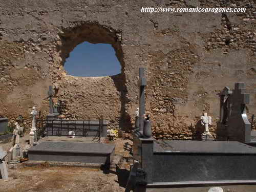
[[[140,12],[155,13],[155,12],[245,12],[246,8],[164,8],[164,7],[141,7]]]

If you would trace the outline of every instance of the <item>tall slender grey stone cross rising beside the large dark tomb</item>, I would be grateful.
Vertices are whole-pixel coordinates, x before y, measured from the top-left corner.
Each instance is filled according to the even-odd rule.
[[[140,101],[139,101],[140,131],[143,131],[143,124],[144,124],[143,115],[145,114],[145,87],[146,87],[145,68],[139,68],[138,86],[140,87]]]

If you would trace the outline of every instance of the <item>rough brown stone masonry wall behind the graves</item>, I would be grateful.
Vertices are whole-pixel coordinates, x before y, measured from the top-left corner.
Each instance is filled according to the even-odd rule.
[[[146,111],[153,131],[187,132],[203,112],[218,120],[218,93],[244,82],[256,112],[255,3],[244,1],[0,1],[0,114],[48,111],[52,84],[66,116],[103,115],[127,129],[146,68]],[[245,13],[146,13],[147,7],[237,7]],[[111,44],[121,74],[74,77],[63,66],[81,42]],[[104,63],[102,63],[104,65]],[[31,117],[30,117],[31,118]]]

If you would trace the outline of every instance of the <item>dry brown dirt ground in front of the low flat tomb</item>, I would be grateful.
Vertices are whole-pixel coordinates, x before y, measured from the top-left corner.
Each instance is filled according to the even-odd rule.
[[[26,145],[28,136],[21,138],[20,143]],[[127,143],[131,140],[118,138],[116,154],[129,154]],[[126,144],[125,144],[126,143]],[[0,143],[4,150],[8,150],[11,142]],[[130,146],[130,145],[129,145]],[[124,161],[122,167],[111,169],[105,173],[101,168],[89,167],[56,167],[48,163],[33,167],[25,166],[24,163],[15,166],[8,165],[9,180],[0,179],[0,191],[4,192],[32,192],[32,191],[124,191],[125,179],[129,176],[129,165]]]

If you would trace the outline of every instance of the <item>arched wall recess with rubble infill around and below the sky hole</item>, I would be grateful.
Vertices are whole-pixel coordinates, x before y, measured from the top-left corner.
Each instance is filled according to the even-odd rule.
[[[83,23],[76,24],[76,27],[62,29],[58,35],[60,41],[57,44],[57,51],[61,59],[58,59],[60,62],[57,62],[57,65],[60,66],[55,66],[56,70],[64,70],[65,67],[72,66],[72,63],[68,63],[72,51],[83,42],[93,44],[92,46],[98,44],[112,46],[121,68],[117,72],[112,71],[115,75],[109,76],[99,73],[72,76],[67,71],[61,71],[60,76],[58,72],[53,72],[52,82],[62,83],[61,89],[66,89],[64,93],[60,91],[59,95],[70,101],[69,104],[72,105],[69,108],[72,108],[70,113],[76,113],[79,116],[103,115],[109,118],[111,124],[118,124],[124,130],[129,129],[131,117],[127,113],[129,99],[127,99],[127,82],[124,74],[121,32],[97,23]],[[109,65],[105,67],[110,68]]]

